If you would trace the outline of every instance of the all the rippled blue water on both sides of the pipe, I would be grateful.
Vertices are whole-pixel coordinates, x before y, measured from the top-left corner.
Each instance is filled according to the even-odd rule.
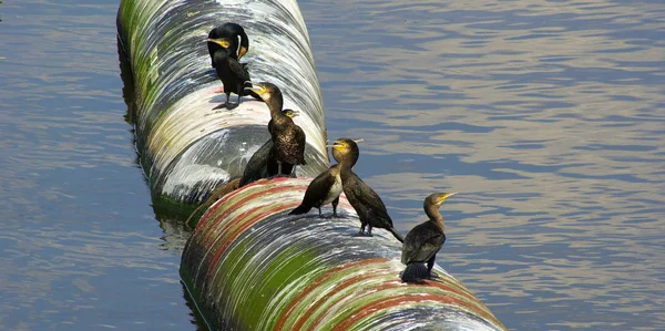
[[[0,329],[194,330],[95,3],[0,4]],[[665,3],[300,8],[328,136],[402,232],[460,192],[439,263],[508,328],[665,329]]]

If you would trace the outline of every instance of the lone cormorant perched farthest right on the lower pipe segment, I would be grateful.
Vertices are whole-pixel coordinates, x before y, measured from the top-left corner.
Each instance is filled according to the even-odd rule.
[[[402,272],[402,281],[416,282],[431,277],[437,252],[446,242],[443,217],[439,211],[439,207],[446,199],[456,194],[457,192],[434,193],[429,195],[422,203],[422,208],[429,220],[413,227],[405,238],[401,261],[407,265],[407,268]],[[427,268],[423,263],[427,263]]]

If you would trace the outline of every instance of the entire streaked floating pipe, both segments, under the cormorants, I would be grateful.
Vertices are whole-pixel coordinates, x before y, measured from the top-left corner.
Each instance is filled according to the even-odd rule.
[[[123,0],[117,25],[134,74],[137,148],[157,198],[203,200],[238,177],[269,137],[259,102],[213,110],[225,96],[215,94],[219,82],[203,41],[226,21],[242,22],[249,34],[244,60],[253,80],[279,85],[285,107],[300,113],[308,166],[298,176],[328,166],[318,80],[295,1]],[[352,237],[359,220],[344,196],[339,218],[287,216],[309,180],[258,180],[201,218],[181,275],[211,329],[504,330],[439,266],[436,280],[401,283],[399,242],[381,229]]]

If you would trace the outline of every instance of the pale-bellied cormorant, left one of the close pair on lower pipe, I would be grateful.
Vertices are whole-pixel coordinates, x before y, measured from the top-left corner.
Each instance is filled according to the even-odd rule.
[[[319,209],[320,217],[321,207],[332,203],[332,217],[337,217],[337,205],[342,192],[340,176],[342,164],[348,164],[348,167],[352,168],[358,161],[359,152],[356,142],[349,138],[337,139],[330,149],[337,164],[320,173],[309,183],[303,203],[288,215],[305,214],[311,207],[316,207]]]

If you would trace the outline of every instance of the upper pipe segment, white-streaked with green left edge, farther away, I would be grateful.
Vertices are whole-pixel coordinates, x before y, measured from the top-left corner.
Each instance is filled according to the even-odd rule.
[[[117,25],[134,75],[136,145],[158,198],[202,201],[239,177],[269,138],[265,104],[243,97],[233,111],[213,110],[225,95],[206,40],[227,21],[242,23],[249,35],[243,61],[253,80],[277,84],[284,106],[299,113],[295,122],[307,134],[308,165],[297,174],[316,176],[328,166],[318,79],[295,1],[123,0]]]

